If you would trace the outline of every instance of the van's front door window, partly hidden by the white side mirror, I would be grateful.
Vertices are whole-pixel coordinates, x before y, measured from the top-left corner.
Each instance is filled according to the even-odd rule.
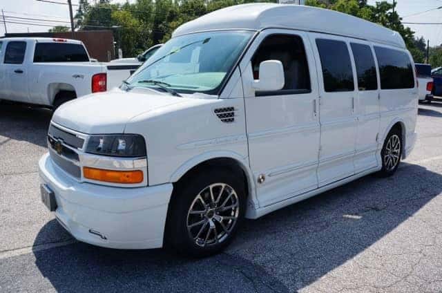
[[[302,39],[296,35],[270,35],[260,44],[251,59],[253,79],[259,79],[260,63],[279,60],[284,68],[284,88],[276,92],[257,92],[256,95],[291,95],[310,93],[310,75]]]

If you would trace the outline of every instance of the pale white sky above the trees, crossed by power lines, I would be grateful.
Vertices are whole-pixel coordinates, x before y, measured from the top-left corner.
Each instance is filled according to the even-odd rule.
[[[64,1],[64,0],[57,0]],[[78,0],[72,0],[73,3],[78,3]],[[118,1],[118,0],[113,0]],[[122,2],[124,0],[121,0]],[[131,0],[132,2],[133,0]],[[392,3],[393,0],[388,0]],[[93,2],[91,0],[90,2]],[[368,0],[369,4],[374,4],[376,0]],[[403,21],[409,22],[442,22],[442,9],[433,10],[423,14],[406,17],[417,12],[430,10],[442,6],[442,0],[396,0],[397,11],[401,17],[404,17]],[[77,6],[73,6],[76,10]],[[69,26],[69,23],[64,22],[50,22],[40,20],[26,20],[19,18],[9,17],[28,17],[33,19],[50,19],[57,21],[69,21],[69,10],[66,5],[59,5],[53,3],[44,3],[37,0],[0,0],[0,9],[3,9],[6,15],[6,21],[12,22],[32,22],[41,23],[49,26],[61,24]],[[75,12],[74,12],[75,15]],[[0,15],[1,19],[1,15]],[[49,26],[30,26],[28,24],[19,23],[6,23],[8,32],[46,32],[50,28]],[[423,36],[425,39],[430,39],[430,46],[442,44],[442,25],[407,25],[416,32],[416,37]],[[4,35],[5,28],[3,23],[0,23],[0,35]]]

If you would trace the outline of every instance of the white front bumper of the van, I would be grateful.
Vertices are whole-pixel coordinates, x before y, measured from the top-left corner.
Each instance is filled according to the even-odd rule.
[[[39,174],[55,193],[57,220],[78,240],[119,249],[162,247],[171,183],[125,188],[78,182],[48,153],[39,161]]]

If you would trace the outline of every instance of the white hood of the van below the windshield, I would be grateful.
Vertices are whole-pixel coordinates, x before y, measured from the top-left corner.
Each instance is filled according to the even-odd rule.
[[[61,105],[52,121],[81,133],[123,133],[126,123],[137,115],[193,100],[151,90],[115,89],[95,93]]]

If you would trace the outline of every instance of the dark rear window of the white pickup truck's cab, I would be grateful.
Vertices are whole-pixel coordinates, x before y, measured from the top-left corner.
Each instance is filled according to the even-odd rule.
[[[79,44],[40,43],[35,46],[34,62],[88,62],[88,54]]]

